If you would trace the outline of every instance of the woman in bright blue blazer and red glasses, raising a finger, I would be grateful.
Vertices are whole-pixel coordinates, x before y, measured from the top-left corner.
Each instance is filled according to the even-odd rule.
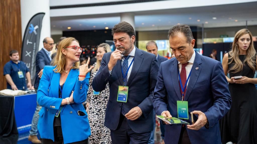
[[[43,143],[86,143],[90,136],[88,115],[82,102],[89,86],[88,68],[79,64],[81,48],[75,38],[63,39],[53,66],[45,66],[38,88],[38,130]]]

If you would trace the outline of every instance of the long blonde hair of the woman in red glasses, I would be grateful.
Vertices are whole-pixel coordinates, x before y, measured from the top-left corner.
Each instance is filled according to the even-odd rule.
[[[58,49],[56,52],[56,56],[53,58],[51,61],[52,66],[56,66],[56,68],[53,69],[55,73],[65,73],[65,67],[67,64],[67,59],[66,56],[62,53],[62,49],[67,49],[66,47],[71,44],[71,42],[76,41],[78,42],[77,39],[74,37],[68,37],[63,39],[59,45]],[[79,43],[79,42],[78,42]],[[80,63],[79,61],[74,64],[74,66],[71,69],[79,69]]]

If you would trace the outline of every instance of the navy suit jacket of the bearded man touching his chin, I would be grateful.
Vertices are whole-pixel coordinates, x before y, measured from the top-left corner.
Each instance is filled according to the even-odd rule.
[[[92,86],[95,91],[102,91],[109,82],[110,97],[106,107],[104,125],[116,130],[121,115],[122,102],[117,101],[118,86],[123,85],[121,60],[113,67],[112,75],[109,74],[108,63],[112,52],[103,56],[101,66]],[[130,77],[127,81],[128,98],[124,103],[125,113],[138,106],[142,115],[136,120],[127,120],[134,132],[143,133],[153,130],[153,90],[157,82],[158,64],[156,56],[136,48],[134,63]]]

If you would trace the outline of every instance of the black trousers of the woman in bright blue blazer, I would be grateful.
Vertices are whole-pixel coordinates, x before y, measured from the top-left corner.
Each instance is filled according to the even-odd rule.
[[[53,127],[54,141],[51,139],[42,139],[43,144],[63,144],[63,136],[62,136],[62,127],[56,126]],[[88,139],[72,142],[71,144],[87,144]]]

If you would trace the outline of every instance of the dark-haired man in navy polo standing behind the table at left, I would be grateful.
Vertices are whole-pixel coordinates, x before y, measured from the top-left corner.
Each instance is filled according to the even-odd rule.
[[[4,76],[7,81],[7,89],[26,90],[32,89],[30,71],[23,61],[20,61],[17,50],[11,50],[10,61],[4,65]],[[26,85],[27,78],[27,85]]]

